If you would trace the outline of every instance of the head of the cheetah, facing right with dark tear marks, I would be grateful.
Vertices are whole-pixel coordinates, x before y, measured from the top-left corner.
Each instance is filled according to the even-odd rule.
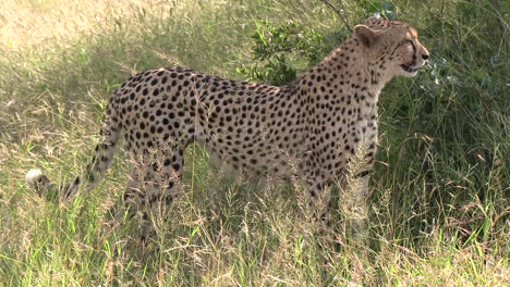
[[[387,79],[416,76],[429,57],[418,41],[417,30],[402,22],[371,17],[354,27],[353,37],[361,41],[369,62]]]

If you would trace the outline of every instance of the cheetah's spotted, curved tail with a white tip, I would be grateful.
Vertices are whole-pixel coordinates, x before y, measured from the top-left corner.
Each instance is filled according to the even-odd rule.
[[[111,165],[122,129],[117,116],[117,109],[112,105],[110,102],[107,107],[104,128],[100,133],[104,139],[96,146],[94,157],[85,173],[76,176],[71,183],[57,185],[42,171],[33,169],[28,171],[25,177],[32,189],[48,200],[68,199],[74,196],[81,186],[86,187],[86,190],[90,190],[95,184],[100,182],[106,170]]]

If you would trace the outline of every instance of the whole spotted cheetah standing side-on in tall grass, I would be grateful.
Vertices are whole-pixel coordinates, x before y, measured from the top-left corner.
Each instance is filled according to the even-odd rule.
[[[197,142],[234,170],[298,178],[313,205],[329,201],[331,185],[347,176],[363,146],[366,164],[351,175],[361,178],[363,197],[376,154],[379,93],[396,76],[414,77],[428,57],[415,28],[371,17],[325,60],[281,87],[179,66],[146,71],[110,99],[102,140],[82,175],[57,185],[34,169],[26,179],[39,194],[53,188],[61,198],[78,187],[89,190],[124,138],[135,166],[144,166],[130,176],[124,199],[151,212],[174,199],[184,150]]]

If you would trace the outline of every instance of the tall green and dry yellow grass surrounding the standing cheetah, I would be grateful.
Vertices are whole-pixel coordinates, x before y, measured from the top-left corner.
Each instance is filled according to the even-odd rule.
[[[338,3],[337,1],[331,1]],[[378,1],[343,1],[361,23]],[[490,2],[490,3],[489,3]],[[372,5],[375,3],[376,5]],[[378,5],[379,10],[381,5]],[[137,222],[106,228],[130,162],[72,202],[31,192],[24,174],[80,173],[117,86],[181,64],[223,77],[253,65],[256,23],[347,32],[320,1],[8,0],[0,10],[1,286],[508,286],[510,98],[508,1],[394,1],[432,52],[416,78],[381,95],[369,244],[315,236],[301,195],[222,179],[190,149],[184,190],[147,247]],[[390,12],[391,12],[390,11]],[[325,54],[323,54],[325,55]],[[298,71],[312,63],[289,55]],[[319,246],[321,248],[319,248]]]

